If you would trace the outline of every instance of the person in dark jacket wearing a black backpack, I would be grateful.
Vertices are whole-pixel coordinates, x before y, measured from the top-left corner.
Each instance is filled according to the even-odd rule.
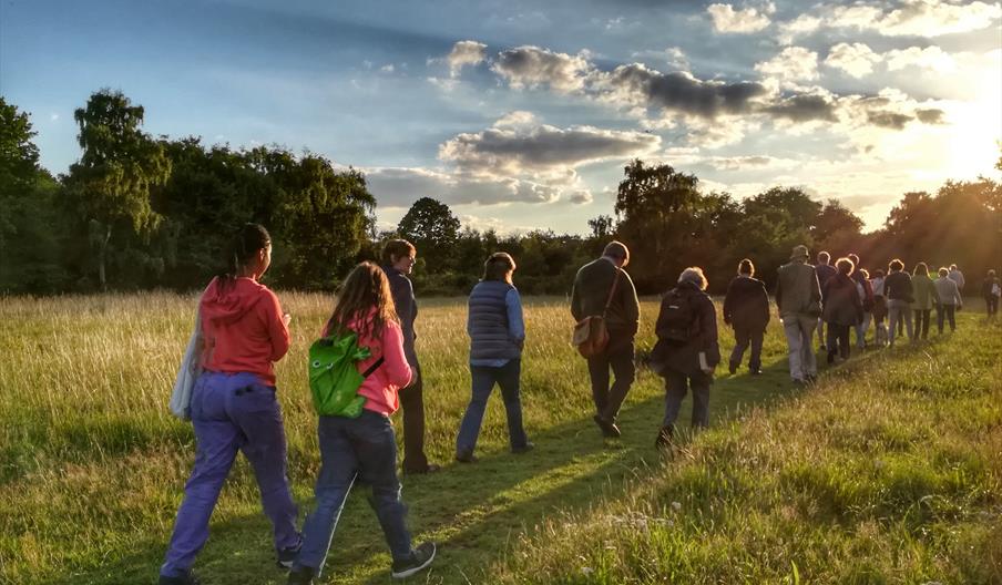
[[[665,418],[656,447],[667,445],[688,388],[693,389],[693,429],[709,424],[709,384],[720,362],[717,314],[703,291],[706,277],[701,268],[686,268],[678,286],[669,290],[657,315],[657,343],[651,352],[654,369],[665,378]]]

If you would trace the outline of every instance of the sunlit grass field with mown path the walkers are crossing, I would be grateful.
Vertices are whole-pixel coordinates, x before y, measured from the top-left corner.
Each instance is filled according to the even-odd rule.
[[[318,455],[304,360],[330,299],[282,298],[294,341],[279,397],[305,512]],[[193,307],[171,294],[0,299],[0,583],[155,582],[194,456],[191,427],[166,409]],[[643,304],[642,350],[656,308]],[[508,453],[492,398],[480,462],[460,466],[464,317],[461,299],[421,304],[428,450],[444,469],[403,480],[416,540],[440,544],[412,582],[1002,583],[1002,328],[981,315],[807,390],[787,381],[774,322],[764,376],[719,376],[713,429],[663,455],[661,379],[638,372],[623,438],[603,440],[564,300],[530,299],[522,397],[536,450]],[[722,331],[725,355],[732,343]],[[198,557],[205,583],[284,583],[269,532],[241,461]],[[390,581],[361,491],[331,551],[327,582]]]

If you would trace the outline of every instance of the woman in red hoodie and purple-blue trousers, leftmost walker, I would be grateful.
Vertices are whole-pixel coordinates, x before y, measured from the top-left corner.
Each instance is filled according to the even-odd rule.
[[[289,348],[289,316],[257,280],[272,263],[272,238],[246,224],[226,256],[227,269],[202,294],[203,373],[192,392],[195,468],[184,486],[160,585],[194,585],[191,567],[208,538],[208,519],[237,451],[250,462],[272,521],[278,564],[299,547],[296,505],[286,476],[285,428],[273,362]]]

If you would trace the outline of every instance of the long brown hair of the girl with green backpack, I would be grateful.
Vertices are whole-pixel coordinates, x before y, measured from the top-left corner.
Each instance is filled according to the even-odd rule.
[[[338,289],[325,335],[344,333],[355,324],[351,330],[359,337],[379,337],[388,322],[400,322],[389,280],[382,268],[364,261],[348,274]]]

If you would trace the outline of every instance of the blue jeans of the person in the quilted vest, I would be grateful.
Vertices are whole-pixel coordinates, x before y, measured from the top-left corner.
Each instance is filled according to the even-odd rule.
[[[501,398],[504,400],[504,412],[508,414],[508,439],[512,449],[525,447],[529,439],[525,429],[522,428],[522,400],[519,392],[519,378],[522,373],[522,360],[513,359],[500,368],[490,366],[470,366],[470,376],[473,379],[472,398],[459,425],[459,437],[456,438],[457,453],[472,453],[477,447],[477,438],[480,435],[480,424],[483,422],[483,412],[487,410],[487,399],[490,398],[494,383],[501,387]]]

